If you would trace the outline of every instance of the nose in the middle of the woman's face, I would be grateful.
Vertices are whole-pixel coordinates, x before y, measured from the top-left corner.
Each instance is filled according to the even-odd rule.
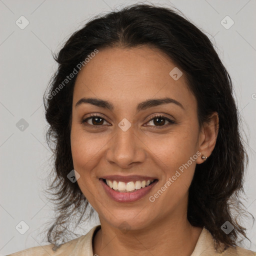
[[[131,126],[123,131],[118,126],[106,152],[106,160],[119,168],[130,168],[134,163],[141,163],[145,160],[145,144],[135,134]]]

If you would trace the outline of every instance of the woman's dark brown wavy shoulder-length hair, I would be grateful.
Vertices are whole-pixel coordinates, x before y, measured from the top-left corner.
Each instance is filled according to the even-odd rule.
[[[77,70],[77,64],[95,49],[141,45],[161,50],[182,70],[197,100],[200,126],[213,111],[218,112],[215,147],[205,162],[196,165],[189,187],[188,221],[208,229],[217,249],[237,246],[239,235],[247,238],[246,228],[238,220],[247,213],[240,198],[244,193],[248,156],[239,130],[240,117],[231,79],[209,38],[180,13],[153,4],[133,4],[96,16],[75,31],[53,56],[58,68],[43,95],[49,123],[46,141],[54,156],[54,179],[47,190],[52,191],[49,193],[56,213],[54,223],[47,229],[48,242],[56,246],[58,240],[65,242],[65,234],[71,232],[68,227],[72,217],[78,214],[77,226],[93,213],[77,182],[67,178],[73,169],[70,126],[77,74],[68,81],[66,76],[74,72],[74,68]],[[66,84],[59,89],[64,80]],[[85,214],[87,208],[90,208],[89,215]],[[220,228],[225,221],[234,226],[229,234]]]

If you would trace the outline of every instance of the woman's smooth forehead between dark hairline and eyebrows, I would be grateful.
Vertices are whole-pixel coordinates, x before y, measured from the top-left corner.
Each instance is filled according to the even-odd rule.
[[[169,96],[184,106],[194,104],[185,75],[177,80],[170,75],[176,68],[164,53],[148,46],[99,49],[77,75],[73,105],[83,96],[129,104]]]

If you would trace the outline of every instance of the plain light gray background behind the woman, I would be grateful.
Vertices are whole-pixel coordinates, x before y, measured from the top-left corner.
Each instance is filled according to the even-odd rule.
[[[53,216],[52,205],[44,197],[46,178],[53,164],[44,140],[46,121],[42,95],[56,69],[51,52],[57,52],[72,32],[92,16],[137,1],[124,0],[0,0],[0,255],[47,244],[45,222]],[[142,2],[142,1],[141,1]],[[181,10],[204,30],[215,45],[232,77],[237,106],[242,114],[243,131],[249,155],[245,176],[245,207],[256,215],[256,1],[255,0],[172,0],[150,1]],[[23,15],[29,24],[20,29],[15,21]],[[226,29],[226,16],[234,24]],[[224,19],[225,20],[225,19]],[[230,20],[224,21],[230,25]],[[23,19],[22,24],[25,24]],[[21,24],[20,24],[21,25]],[[28,127],[16,123],[23,118]],[[22,121],[20,121],[22,122]],[[29,229],[20,234],[15,226],[24,221]],[[242,246],[256,251],[256,228],[251,218]],[[86,233],[98,223],[97,216],[76,233]],[[24,228],[24,225],[22,225]],[[22,229],[20,228],[20,230]],[[21,230],[22,231],[22,230]],[[73,237],[75,238],[75,237]]]

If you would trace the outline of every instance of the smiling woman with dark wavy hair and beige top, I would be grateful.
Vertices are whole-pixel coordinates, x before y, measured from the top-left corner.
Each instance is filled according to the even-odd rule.
[[[237,246],[247,154],[205,34],[137,4],[89,21],[55,59],[44,105],[59,215],[51,244],[11,255],[256,255]],[[88,202],[100,225],[66,241]]]

